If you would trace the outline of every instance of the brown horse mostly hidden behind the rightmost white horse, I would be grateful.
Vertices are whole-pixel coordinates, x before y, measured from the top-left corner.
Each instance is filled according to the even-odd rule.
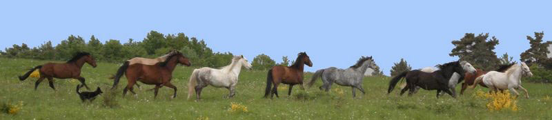
[[[495,71],[504,72],[504,71],[508,70],[508,68],[513,66],[514,64],[515,63],[500,65],[499,68]],[[477,69],[475,74],[466,72],[466,75],[464,75],[464,83],[462,83],[462,90],[460,90],[460,94],[464,94],[464,90],[466,90],[466,88],[468,88],[468,86],[472,86],[473,81],[475,81],[475,79],[477,77],[480,77],[480,76],[482,76],[483,74],[486,74],[486,73],[487,73],[487,71],[484,71],[484,70],[481,70],[481,69]],[[483,83],[483,82],[480,82],[480,83],[477,83],[477,84],[479,84],[480,86],[482,86],[484,88],[487,88],[487,86],[485,86],[485,83]],[[475,88],[475,86],[474,86],[474,88]]]

